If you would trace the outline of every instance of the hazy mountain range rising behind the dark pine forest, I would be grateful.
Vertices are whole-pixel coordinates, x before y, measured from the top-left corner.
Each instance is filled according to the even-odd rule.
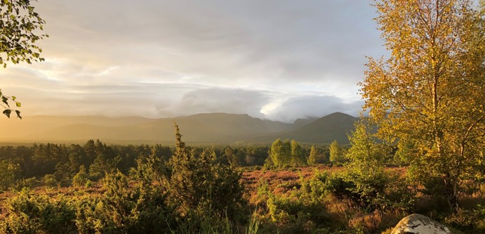
[[[356,117],[335,112],[321,118],[297,119],[292,124],[249,115],[206,113],[187,117],[33,116],[0,121],[0,142],[162,143],[174,141],[173,124],[187,143],[271,143],[277,138],[302,143],[348,143]]]

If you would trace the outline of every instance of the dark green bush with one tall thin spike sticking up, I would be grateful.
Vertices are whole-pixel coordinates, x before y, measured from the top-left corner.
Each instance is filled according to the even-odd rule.
[[[228,217],[237,220],[245,200],[239,184],[240,175],[227,158],[213,157],[213,149],[197,152],[186,148],[175,124],[175,155],[171,157],[168,199],[178,207],[178,214],[200,227],[197,222]],[[213,224],[216,224],[215,222]]]

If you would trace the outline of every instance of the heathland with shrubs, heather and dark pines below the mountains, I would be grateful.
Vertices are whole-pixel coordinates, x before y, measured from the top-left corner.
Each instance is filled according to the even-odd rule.
[[[453,212],[439,177],[410,179],[401,150],[372,141],[362,125],[352,145],[190,147],[176,130],[175,147],[2,146],[0,231],[390,233],[412,213],[456,233],[485,230],[483,182],[460,183]],[[352,156],[364,142],[376,161]]]

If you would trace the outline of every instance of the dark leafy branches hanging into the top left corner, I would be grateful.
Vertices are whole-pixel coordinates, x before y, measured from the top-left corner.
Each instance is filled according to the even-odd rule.
[[[38,34],[44,30],[45,21],[34,11],[32,1],[10,0],[0,1],[0,65],[7,66],[10,61],[13,64],[20,62],[32,63],[44,61],[40,57],[42,49],[36,46],[36,41],[48,37],[46,34]],[[9,101],[20,108],[20,103],[15,96],[5,96],[0,89],[0,105],[5,109],[4,115],[10,118],[12,112],[20,117],[20,110],[11,109]]]

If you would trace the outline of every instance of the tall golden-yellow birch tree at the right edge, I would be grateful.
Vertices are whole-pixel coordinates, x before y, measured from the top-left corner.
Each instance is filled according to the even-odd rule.
[[[361,94],[378,136],[413,145],[411,176],[437,178],[450,208],[481,174],[485,20],[467,0],[382,0],[374,6],[388,59],[369,58]]]

